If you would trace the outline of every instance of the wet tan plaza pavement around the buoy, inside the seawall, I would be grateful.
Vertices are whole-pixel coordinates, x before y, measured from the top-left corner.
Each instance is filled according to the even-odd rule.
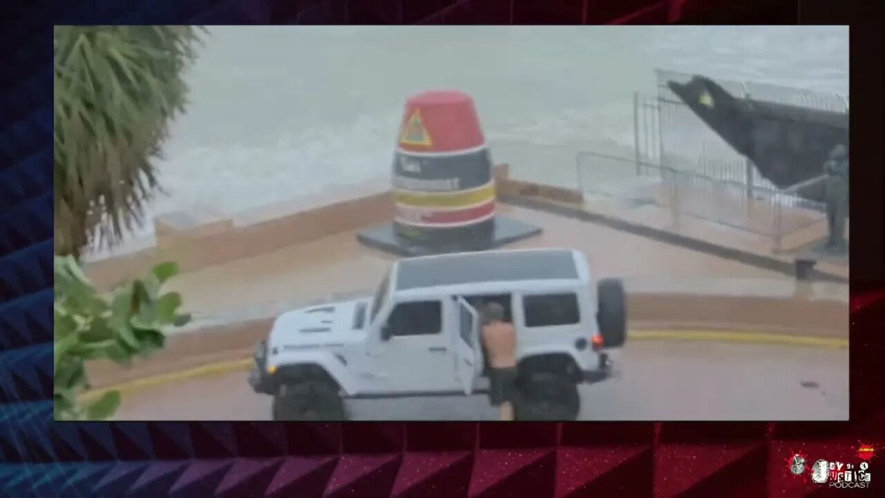
[[[589,222],[515,206],[502,214],[543,227],[543,234],[508,248],[565,247],[583,252],[595,278],[667,277],[785,279],[788,276],[667,245]],[[184,307],[201,316],[223,314],[274,301],[312,300],[333,292],[373,289],[396,258],[360,245],[357,231],[291,245],[272,253],[176,276]]]

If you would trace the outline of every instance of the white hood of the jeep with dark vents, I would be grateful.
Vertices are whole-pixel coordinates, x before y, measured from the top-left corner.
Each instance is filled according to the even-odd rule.
[[[283,313],[273,323],[269,346],[286,349],[358,342],[365,337],[369,302],[327,303]]]

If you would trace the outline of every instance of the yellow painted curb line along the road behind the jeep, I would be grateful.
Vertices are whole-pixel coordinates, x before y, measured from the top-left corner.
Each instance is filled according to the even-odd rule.
[[[627,336],[630,340],[700,340],[715,342],[737,342],[745,344],[767,344],[775,346],[812,346],[825,347],[827,349],[846,349],[848,340],[842,338],[820,338],[810,336],[790,336],[786,334],[771,334],[763,332],[735,332],[735,331],[633,331]],[[81,401],[98,399],[108,391],[119,391],[124,397],[143,389],[158,385],[173,384],[200,377],[214,377],[237,371],[248,370],[254,360],[243,358],[227,362],[211,363],[195,369],[181,370],[154,377],[145,377],[119,385],[112,385],[94,391],[88,391],[80,395]]]

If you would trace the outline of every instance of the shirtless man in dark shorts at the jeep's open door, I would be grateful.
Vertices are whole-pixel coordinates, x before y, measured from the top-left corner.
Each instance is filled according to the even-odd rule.
[[[483,310],[482,343],[489,355],[492,406],[501,407],[501,420],[514,420],[516,391],[516,329],[504,322],[504,307],[489,303]]]

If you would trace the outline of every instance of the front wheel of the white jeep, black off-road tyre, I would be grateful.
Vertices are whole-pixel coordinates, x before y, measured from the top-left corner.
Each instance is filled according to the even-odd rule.
[[[272,412],[273,420],[288,422],[347,419],[338,386],[317,380],[281,385],[273,396]]]

